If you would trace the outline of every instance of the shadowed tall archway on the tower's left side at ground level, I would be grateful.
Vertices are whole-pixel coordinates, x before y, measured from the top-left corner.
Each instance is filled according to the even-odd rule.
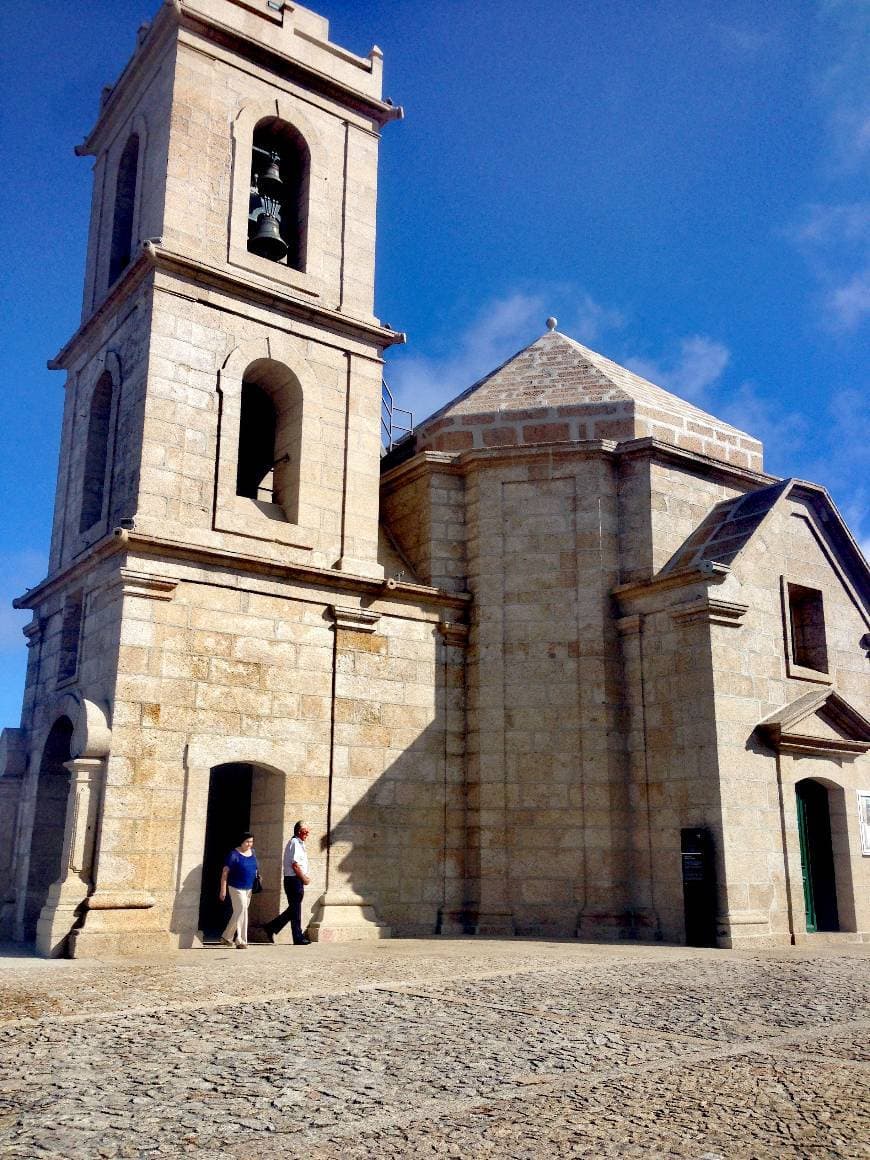
[[[70,800],[70,739],[73,726],[59,717],[51,726],[42,752],[36,786],[36,810],[30,834],[30,863],[24,899],[24,938],[36,938],[36,923],[45,905],[49,887],[63,872],[64,831]]]

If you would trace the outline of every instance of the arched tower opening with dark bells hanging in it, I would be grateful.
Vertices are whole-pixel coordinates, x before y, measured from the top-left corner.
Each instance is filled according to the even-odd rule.
[[[305,269],[311,158],[302,135],[277,117],[254,130],[247,248]]]

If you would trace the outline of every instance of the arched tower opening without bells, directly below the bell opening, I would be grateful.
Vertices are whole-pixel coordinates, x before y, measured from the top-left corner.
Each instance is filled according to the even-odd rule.
[[[302,390],[283,363],[258,358],[241,384],[235,494],[281,508],[296,522]]]

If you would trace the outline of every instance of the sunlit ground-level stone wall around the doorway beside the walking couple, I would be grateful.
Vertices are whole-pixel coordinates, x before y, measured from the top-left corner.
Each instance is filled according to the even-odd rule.
[[[445,900],[461,905],[464,818],[462,683],[434,635],[436,617],[385,607],[372,633],[335,630],[313,590],[193,565],[159,571],[180,581],[172,599],[131,581],[108,590],[123,611],[97,892],[145,891],[154,906],[124,923],[189,944],[209,770],[245,762],[261,785],[267,890],[255,920],[278,905],[281,851],[304,815],[306,913],[327,886],[331,826],[331,887],[375,901],[398,930],[434,930]],[[106,912],[89,916],[80,949],[109,928]]]

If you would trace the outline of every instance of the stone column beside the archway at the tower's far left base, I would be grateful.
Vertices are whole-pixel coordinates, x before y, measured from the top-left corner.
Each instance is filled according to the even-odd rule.
[[[61,877],[49,887],[36,925],[36,950],[55,958],[66,950],[71,928],[78,922],[93,889],[94,848],[100,803],[106,778],[104,757],[73,757],[66,807]]]

